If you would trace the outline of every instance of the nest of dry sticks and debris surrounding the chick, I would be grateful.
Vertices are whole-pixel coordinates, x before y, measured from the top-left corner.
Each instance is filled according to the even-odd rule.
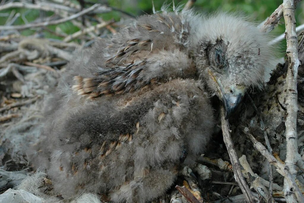
[[[192,3],[188,1],[185,9]],[[90,47],[96,37],[116,33],[132,15],[121,12],[123,20],[120,22],[105,21],[98,14],[111,12],[111,7],[92,4],[84,8],[63,0],[0,5],[0,10],[10,8],[40,9],[42,13],[52,12],[53,15],[14,26],[17,17],[25,17],[12,11],[5,25],[0,26],[0,199],[6,202],[12,201],[12,197],[15,202],[60,201],[63,198],[53,192],[47,173],[35,171],[22,149],[25,145],[36,144],[41,130],[43,98],[57,85],[73,52]],[[290,12],[293,15],[293,11]],[[283,5],[280,5],[261,25],[261,30],[269,32],[282,16]],[[294,29],[292,20],[286,20],[287,33]],[[47,28],[64,22],[71,22],[80,30],[68,35],[59,27],[55,31]],[[30,36],[22,35],[21,31],[28,28],[35,32]],[[46,33],[60,40],[49,39]],[[298,46],[302,61],[303,42],[299,40]],[[288,75],[290,70],[295,70],[298,60],[292,55],[297,50],[290,44],[288,49],[287,63],[277,66],[263,92],[253,90],[246,95],[235,117],[228,122],[223,110],[218,109],[222,112],[218,120],[222,122],[210,142],[208,153],[198,159],[201,171],[196,175],[200,179],[193,179],[189,175],[191,169],[183,168],[177,185],[155,202],[303,200],[304,69],[299,66],[298,78]],[[292,89],[296,84],[298,100],[289,100],[286,89]],[[298,111],[292,113],[295,108]],[[292,125],[294,121],[296,128]],[[288,133],[296,135],[298,142],[291,142]],[[289,152],[290,149],[294,150]],[[76,199],[62,201],[105,202],[108,198],[106,194],[82,194]]]

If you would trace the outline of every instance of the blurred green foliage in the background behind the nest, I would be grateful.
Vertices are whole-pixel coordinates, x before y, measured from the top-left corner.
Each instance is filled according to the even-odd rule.
[[[72,0],[74,3],[78,3],[76,0]],[[96,2],[96,3],[102,3],[109,5],[113,8],[117,8],[123,11],[126,11],[133,16],[139,16],[145,13],[152,13],[152,0],[107,0],[107,1],[100,1],[100,0],[90,0],[88,1],[89,6],[90,4]],[[164,3],[171,4],[172,1],[163,1],[163,0],[154,0],[154,6],[156,10],[160,10],[161,6]],[[187,0],[175,0],[175,5],[181,5],[185,4]],[[197,12],[202,13],[210,13],[217,10],[220,11],[228,11],[228,12],[238,12],[243,13],[244,15],[247,15],[251,21],[259,21],[262,22],[264,19],[266,19],[268,16],[271,15],[271,13],[282,3],[282,0],[197,0],[195,2],[193,8]],[[298,3],[298,8],[296,9],[296,21],[297,26],[304,23],[304,17],[303,17],[303,6],[301,2]],[[12,10],[15,10],[16,12],[19,12],[22,14],[28,22],[32,22],[38,17],[41,16],[41,12],[39,10],[29,10],[29,9],[7,9],[0,11],[0,25],[4,25],[7,21],[7,18],[12,12]],[[44,16],[51,16],[52,12],[43,12]],[[123,15],[119,11],[112,11],[105,14],[100,14],[100,16],[105,19],[115,19],[119,20]],[[126,18],[126,16],[123,16],[123,18]],[[19,17],[13,25],[20,25],[24,24],[25,22],[21,17]],[[55,31],[56,27],[59,26],[60,29],[66,33],[71,34],[79,30],[77,26],[74,26],[71,22],[62,23],[55,26],[48,26],[49,30]],[[281,19],[281,22],[279,23],[278,27],[272,31],[272,34],[274,36],[284,33],[285,27],[284,27],[284,20]],[[37,29],[29,29],[29,30],[22,30],[21,33],[23,35],[31,35],[33,33],[37,32]],[[40,33],[43,33],[44,37],[47,38],[60,38],[58,36],[55,36],[51,32],[48,32],[46,30],[40,30]],[[284,50],[284,42],[281,44],[282,51]]]

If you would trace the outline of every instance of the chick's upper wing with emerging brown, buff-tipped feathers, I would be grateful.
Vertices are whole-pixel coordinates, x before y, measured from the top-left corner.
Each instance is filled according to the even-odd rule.
[[[86,95],[92,99],[102,95],[123,94],[141,89],[151,82],[158,82],[161,75],[144,77],[143,72],[152,65],[152,62],[148,61],[149,56],[178,47],[179,50],[185,49],[180,46],[180,40],[188,37],[183,26],[185,28],[187,25],[183,25],[181,17],[174,13],[155,14],[138,19],[135,27],[121,30],[113,37],[112,44],[105,47],[109,52],[116,51],[105,61],[105,67],[100,67],[100,71],[92,78],[75,76],[72,89],[78,95]],[[126,38],[122,39],[124,35]],[[130,38],[131,36],[136,38]],[[170,67],[170,63],[166,65]],[[173,76],[174,74],[176,73],[173,72]]]

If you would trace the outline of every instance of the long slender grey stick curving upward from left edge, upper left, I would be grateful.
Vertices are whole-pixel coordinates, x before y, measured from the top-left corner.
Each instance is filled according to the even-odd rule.
[[[85,15],[86,13],[89,13],[95,9],[98,9],[98,7],[100,7],[100,4],[95,4],[92,5],[91,7],[84,9],[78,13],[75,13],[71,16],[65,17],[65,18],[61,18],[58,20],[53,20],[53,21],[46,21],[46,22],[42,22],[42,23],[29,23],[26,25],[16,25],[16,26],[0,26],[0,30],[24,30],[24,29],[28,29],[28,28],[33,28],[33,27],[41,27],[41,26],[48,26],[48,25],[56,25],[56,24],[60,24],[60,23],[64,23],[67,22],[69,20],[78,18],[80,16]]]

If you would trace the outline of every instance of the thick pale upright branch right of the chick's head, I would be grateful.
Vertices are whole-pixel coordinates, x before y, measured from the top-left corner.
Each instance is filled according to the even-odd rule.
[[[291,181],[295,180],[297,174],[296,166],[298,162],[303,161],[298,153],[298,135],[297,135],[297,111],[298,111],[298,95],[297,95],[297,76],[300,61],[298,58],[298,37],[295,31],[295,1],[283,1],[283,13],[286,28],[286,41],[287,49],[286,54],[288,57],[288,71],[286,76],[285,88],[285,105],[286,105],[286,119],[285,119],[285,134],[286,134],[286,159],[285,166],[288,169],[288,174],[291,176]],[[299,202],[304,202],[302,194],[297,195],[297,189],[293,188],[290,181],[284,178],[284,195],[287,202],[294,201],[295,197]]]

